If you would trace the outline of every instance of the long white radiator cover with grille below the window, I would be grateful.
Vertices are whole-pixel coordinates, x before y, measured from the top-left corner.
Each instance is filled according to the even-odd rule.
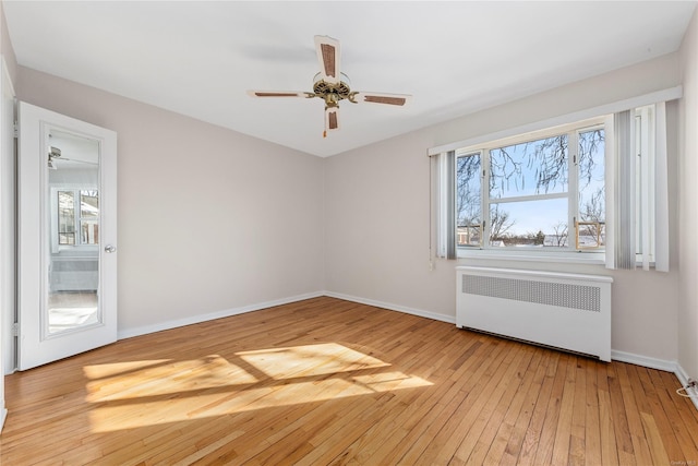
[[[456,325],[611,360],[612,277],[456,267]]]

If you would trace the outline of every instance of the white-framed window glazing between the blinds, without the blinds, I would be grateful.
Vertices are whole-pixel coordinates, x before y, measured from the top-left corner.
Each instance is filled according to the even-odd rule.
[[[603,119],[455,153],[460,250],[603,249]]]

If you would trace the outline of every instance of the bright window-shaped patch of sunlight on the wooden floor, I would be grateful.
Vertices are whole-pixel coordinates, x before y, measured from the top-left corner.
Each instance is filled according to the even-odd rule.
[[[429,386],[339,344],[85,367],[94,432]]]

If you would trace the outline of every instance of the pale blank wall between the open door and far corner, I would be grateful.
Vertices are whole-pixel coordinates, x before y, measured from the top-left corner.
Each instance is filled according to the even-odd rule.
[[[20,99],[118,133],[120,335],[324,289],[323,159],[34,70],[17,75]]]

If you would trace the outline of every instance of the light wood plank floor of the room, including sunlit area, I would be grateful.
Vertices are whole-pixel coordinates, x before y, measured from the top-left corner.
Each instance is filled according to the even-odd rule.
[[[2,465],[698,462],[671,373],[333,298],[5,381]]]

